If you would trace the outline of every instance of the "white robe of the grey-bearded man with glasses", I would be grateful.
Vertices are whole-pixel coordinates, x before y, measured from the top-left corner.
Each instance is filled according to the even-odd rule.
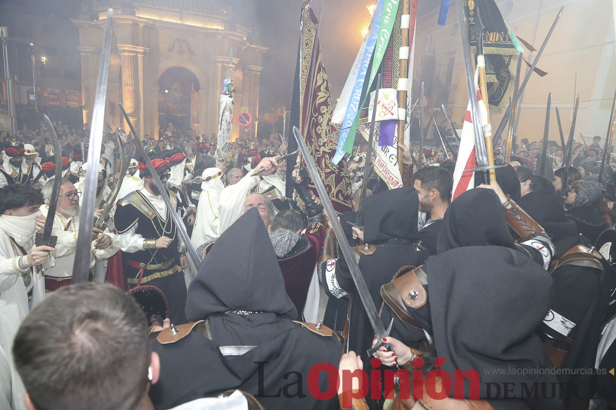
[[[47,216],[47,205],[41,206],[41,212]],[[68,226],[68,229],[65,228]],[[111,237],[111,246],[106,249],[96,249],[92,241],[92,252],[90,254],[90,269],[94,269],[94,280],[97,283],[105,282],[107,274],[107,259],[111,258],[120,250],[120,241],[117,235],[105,229],[105,234]],[[55,245],[55,266],[47,269],[46,276],[67,278],[73,276],[73,264],[75,263],[75,251],[77,248],[77,236],[79,233],[79,218],[65,218],[59,213],[55,213],[54,228],[52,234],[58,237]]]

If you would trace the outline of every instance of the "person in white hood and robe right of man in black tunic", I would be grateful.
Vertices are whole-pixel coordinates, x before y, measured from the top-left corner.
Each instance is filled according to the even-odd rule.
[[[201,174],[201,195],[197,207],[197,218],[191,237],[195,249],[212,242],[221,235],[220,195],[225,188],[219,168],[206,168]]]

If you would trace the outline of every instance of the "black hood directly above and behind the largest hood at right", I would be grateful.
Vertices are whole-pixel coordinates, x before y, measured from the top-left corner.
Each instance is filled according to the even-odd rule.
[[[437,253],[487,245],[515,248],[498,196],[492,189],[474,188],[460,194],[445,211]]]

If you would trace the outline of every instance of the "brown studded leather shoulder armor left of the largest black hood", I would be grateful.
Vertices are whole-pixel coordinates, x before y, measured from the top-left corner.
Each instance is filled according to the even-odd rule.
[[[403,322],[413,327],[421,329],[418,321],[410,315],[410,309],[419,309],[426,304],[428,292],[423,285],[426,285],[426,272],[423,265],[416,267],[403,267],[403,272],[392,282],[381,286],[381,296],[387,306],[391,307],[395,315]]]

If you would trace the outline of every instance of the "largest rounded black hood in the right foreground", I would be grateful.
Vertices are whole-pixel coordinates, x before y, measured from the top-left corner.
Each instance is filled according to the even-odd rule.
[[[514,391],[520,392],[522,384],[557,382],[549,374],[508,373],[509,368],[552,367],[535,334],[553,291],[552,278],[540,265],[501,246],[472,246],[432,256],[426,268],[436,353],[447,358],[442,368],[448,374],[476,369],[481,398],[489,396],[492,383],[516,384]],[[561,408],[556,403],[531,408]]]

